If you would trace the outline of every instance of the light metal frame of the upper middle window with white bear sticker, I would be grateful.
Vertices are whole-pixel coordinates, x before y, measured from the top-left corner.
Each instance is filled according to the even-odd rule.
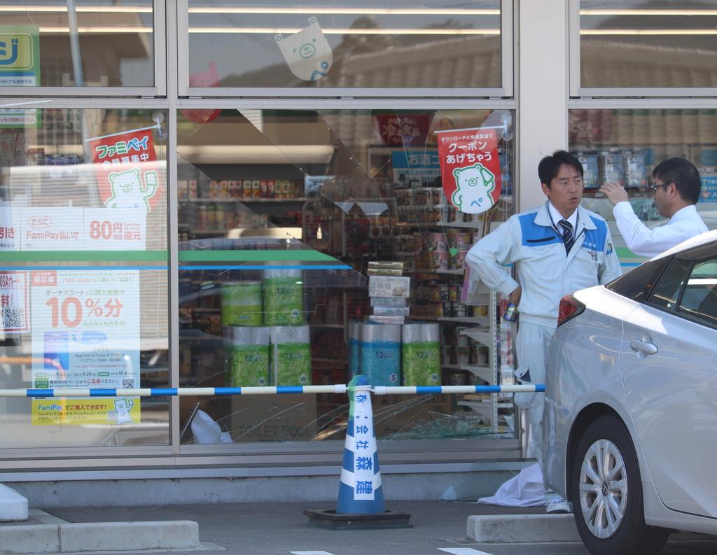
[[[177,1],[177,79],[179,96],[201,98],[513,98],[516,20],[513,0],[500,0],[500,87],[485,88],[374,88],[374,87],[190,87],[189,86],[189,0]],[[182,40],[184,39],[184,40]]]

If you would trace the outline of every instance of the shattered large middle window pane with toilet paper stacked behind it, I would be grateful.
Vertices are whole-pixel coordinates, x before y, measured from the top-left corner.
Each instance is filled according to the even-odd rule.
[[[501,379],[493,351],[460,333],[495,307],[460,289],[467,248],[513,213],[511,122],[509,110],[182,113],[180,385]],[[442,191],[436,132],[480,127],[496,129],[503,189],[489,212],[464,214]],[[379,275],[398,279],[395,298],[369,295]],[[404,337],[400,323],[421,329]],[[500,399],[493,422],[490,399],[376,396],[376,434],[512,436],[512,404]],[[181,442],[341,440],[347,402],[181,397]]]

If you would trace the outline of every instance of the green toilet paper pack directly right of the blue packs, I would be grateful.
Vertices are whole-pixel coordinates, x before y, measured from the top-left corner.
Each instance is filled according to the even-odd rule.
[[[441,383],[441,348],[438,324],[406,324],[402,331],[404,386]]]

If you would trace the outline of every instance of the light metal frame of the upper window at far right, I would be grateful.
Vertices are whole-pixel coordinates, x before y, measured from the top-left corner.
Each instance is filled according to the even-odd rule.
[[[583,87],[580,82],[580,1],[568,0],[569,98],[715,98],[717,87]]]

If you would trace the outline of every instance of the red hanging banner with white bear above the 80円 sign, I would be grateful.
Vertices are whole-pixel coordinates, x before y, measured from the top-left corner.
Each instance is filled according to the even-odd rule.
[[[154,129],[87,139],[105,207],[151,212],[162,198],[163,166],[154,151]]]

